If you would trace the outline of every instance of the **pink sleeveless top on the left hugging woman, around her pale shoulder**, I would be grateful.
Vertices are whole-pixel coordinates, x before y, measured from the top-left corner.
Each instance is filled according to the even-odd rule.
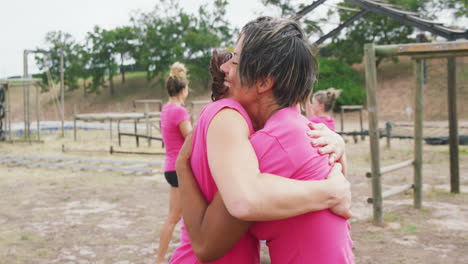
[[[206,135],[211,120],[223,108],[231,108],[239,112],[247,122],[250,134],[254,132],[247,112],[237,101],[232,99],[222,99],[210,103],[205,106],[203,111],[200,113],[200,117],[193,133],[192,157],[190,162],[195,178],[200,186],[200,190],[208,203],[213,201],[218,188],[216,187],[211,175],[210,167],[208,166]],[[199,263],[193,253],[192,247],[190,246],[187,230],[183,223],[181,231],[180,245],[175,250],[169,263]],[[260,244],[258,239],[256,239],[250,232],[247,232],[228,253],[217,261],[210,263],[258,264],[260,263],[259,249]]]

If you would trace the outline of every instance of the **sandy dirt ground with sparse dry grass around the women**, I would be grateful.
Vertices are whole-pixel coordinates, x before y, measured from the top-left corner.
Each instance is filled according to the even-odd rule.
[[[346,124],[347,127],[349,126]],[[108,131],[67,131],[43,135],[41,144],[0,144],[0,154],[162,160],[164,156],[78,152],[106,150]],[[113,144],[116,137],[114,137]],[[468,263],[468,147],[460,146],[461,194],[449,192],[448,146],[424,145],[423,208],[413,208],[411,192],[384,200],[384,227],[372,223],[369,142],[348,141],[353,188],[352,237],[356,263]],[[62,153],[65,144],[70,151]],[[122,149],[135,148],[130,139]],[[412,157],[410,140],[381,140],[382,166]],[[160,144],[139,151],[158,151]],[[383,189],[413,179],[412,168],[384,175]],[[167,214],[168,184],[161,169],[152,175],[0,164],[0,263],[153,263]],[[169,254],[179,244],[176,227]],[[262,248],[262,263],[269,263]]]

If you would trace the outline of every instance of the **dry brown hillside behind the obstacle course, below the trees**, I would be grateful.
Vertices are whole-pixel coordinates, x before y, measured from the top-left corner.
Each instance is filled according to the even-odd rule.
[[[364,78],[363,65],[353,66]],[[400,58],[398,63],[383,62],[377,72],[378,113],[381,120],[407,121],[407,108],[414,108],[414,77],[409,58]],[[132,112],[135,99],[167,100],[164,83],[159,80],[148,82],[142,72],[129,73],[126,82],[120,76],[114,80],[116,94],[109,95],[109,89],[99,94],[84,96],[83,89],[67,91],[65,94],[65,119],[72,120],[73,112]],[[363,84],[364,87],[364,84]],[[447,119],[447,66],[446,59],[428,61],[428,83],[424,87],[424,119]],[[468,58],[457,59],[457,106],[460,120],[468,119]],[[190,84],[191,92],[187,105],[193,100],[209,100],[209,90],[198,83]],[[338,87],[339,88],[339,87]],[[364,88],[363,88],[364,89]],[[23,87],[11,87],[12,122],[23,122]],[[58,94],[58,87],[41,95],[41,120],[57,120],[60,115],[52,98]],[[31,120],[35,120],[35,89],[31,88]],[[143,109],[137,109],[143,111]]]

